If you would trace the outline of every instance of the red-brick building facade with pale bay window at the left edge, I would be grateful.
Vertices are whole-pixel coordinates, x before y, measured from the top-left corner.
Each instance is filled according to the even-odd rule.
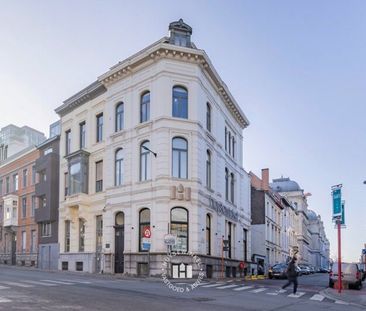
[[[1,263],[37,265],[38,228],[34,213],[38,157],[39,151],[29,147],[0,164]]]

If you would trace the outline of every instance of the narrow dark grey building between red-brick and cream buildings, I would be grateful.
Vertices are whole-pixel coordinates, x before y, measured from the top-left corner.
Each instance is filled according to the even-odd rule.
[[[38,204],[34,215],[39,232],[38,267],[46,270],[57,270],[59,258],[60,136],[57,133],[54,133],[54,135],[37,146],[40,156],[35,163],[35,170],[38,175],[35,186],[35,196]]]

